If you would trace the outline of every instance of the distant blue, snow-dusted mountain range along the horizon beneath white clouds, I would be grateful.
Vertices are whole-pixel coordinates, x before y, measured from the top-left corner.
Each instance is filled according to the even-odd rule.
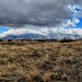
[[[70,39],[80,39],[82,38],[81,35],[78,34],[63,34],[63,33],[56,33],[56,34],[21,34],[21,35],[8,35],[2,37],[2,39],[62,39],[62,38],[70,38]]]

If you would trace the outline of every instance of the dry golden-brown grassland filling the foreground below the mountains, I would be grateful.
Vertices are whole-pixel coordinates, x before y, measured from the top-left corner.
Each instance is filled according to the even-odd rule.
[[[82,82],[82,42],[0,42],[0,82]]]

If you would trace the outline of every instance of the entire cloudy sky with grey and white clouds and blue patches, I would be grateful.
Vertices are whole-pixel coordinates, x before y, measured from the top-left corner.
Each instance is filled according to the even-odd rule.
[[[0,0],[0,37],[31,33],[82,37],[82,0]]]

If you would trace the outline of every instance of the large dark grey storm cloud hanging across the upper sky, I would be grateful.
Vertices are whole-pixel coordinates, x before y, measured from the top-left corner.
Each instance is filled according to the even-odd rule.
[[[57,26],[72,17],[70,3],[69,0],[0,0],[0,25]]]

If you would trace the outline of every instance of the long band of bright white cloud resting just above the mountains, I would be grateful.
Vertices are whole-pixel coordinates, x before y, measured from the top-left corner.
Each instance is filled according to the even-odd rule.
[[[46,35],[49,34],[71,34],[71,35],[80,35],[82,37],[82,28],[63,28],[63,27],[45,27],[45,28],[16,28],[16,30],[9,30],[8,32],[3,32],[0,34],[1,37],[5,37],[8,35],[21,35],[21,34],[39,34],[39,35]],[[69,37],[69,36],[68,36]]]

